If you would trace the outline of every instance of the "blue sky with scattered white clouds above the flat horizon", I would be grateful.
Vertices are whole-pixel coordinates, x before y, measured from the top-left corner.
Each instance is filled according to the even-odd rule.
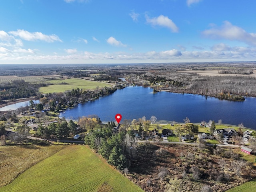
[[[0,64],[256,60],[255,0],[3,0]]]

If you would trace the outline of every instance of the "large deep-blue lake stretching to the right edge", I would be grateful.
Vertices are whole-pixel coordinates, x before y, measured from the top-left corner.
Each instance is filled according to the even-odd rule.
[[[114,121],[116,114],[124,119],[138,119],[152,115],[158,120],[198,123],[222,120],[223,124],[238,125],[255,129],[256,98],[247,97],[245,101],[219,100],[194,94],[177,94],[170,92],[152,93],[153,89],[142,86],[129,86],[116,90],[111,95],[98,100],[78,104],[66,110],[60,117],[77,119],[78,117],[96,114],[103,122]],[[120,122],[122,123],[122,121]]]

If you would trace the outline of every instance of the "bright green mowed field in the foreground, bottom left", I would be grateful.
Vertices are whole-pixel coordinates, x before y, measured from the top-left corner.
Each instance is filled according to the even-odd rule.
[[[142,192],[86,146],[70,145],[32,166],[0,192]]]

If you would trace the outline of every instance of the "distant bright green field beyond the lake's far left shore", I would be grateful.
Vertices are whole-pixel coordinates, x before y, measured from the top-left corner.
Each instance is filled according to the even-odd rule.
[[[90,81],[85,79],[79,79],[79,78],[70,78],[70,79],[60,79],[60,80],[50,80],[49,83],[53,83],[54,85],[49,85],[45,87],[40,87],[39,92],[41,93],[54,93],[54,92],[64,92],[76,88],[80,88],[83,90],[95,90],[96,87],[104,88],[111,87],[111,84],[103,83],[103,82],[97,82],[97,81]],[[61,84],[66,83],[66,84]]]

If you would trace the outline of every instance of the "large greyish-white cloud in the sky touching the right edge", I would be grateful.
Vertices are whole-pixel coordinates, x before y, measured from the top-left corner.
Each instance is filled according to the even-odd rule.
[[[213,26],[211,29],[203,31],[202,34],[207,38],[236,40],[256,46],[255,33],[248,33],[244,29],[234,26],[228,21],[224,21],[223,25],[220,27]]]

